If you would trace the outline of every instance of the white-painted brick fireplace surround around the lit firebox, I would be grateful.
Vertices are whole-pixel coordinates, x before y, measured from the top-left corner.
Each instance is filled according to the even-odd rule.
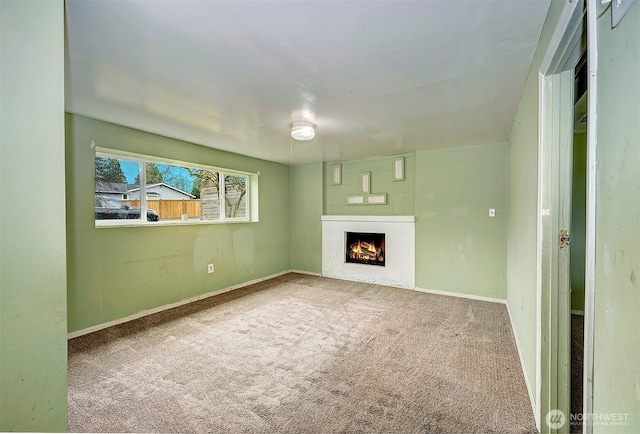
[[[346,261],[346,233],[385,234],[385,266]],[[415,216],[322,216],[322,275],[415,287]]]

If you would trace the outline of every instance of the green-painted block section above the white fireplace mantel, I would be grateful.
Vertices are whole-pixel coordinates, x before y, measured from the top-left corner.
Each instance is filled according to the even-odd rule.
[[[393,181],[393,160],[404,157],[404,181]],[[327,215],[414,215],[415,154],[324,165],[324,213]],[[342,167],[342,183],[333,185],[332,167]],[[371,193],[386,193],[386,205],[347,205],[348,195],[361,192],[360,174],[371,172]]]

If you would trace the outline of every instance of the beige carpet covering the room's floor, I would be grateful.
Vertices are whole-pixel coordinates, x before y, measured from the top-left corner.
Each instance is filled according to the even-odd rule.
[[[300,274],[72,339],[69,430],[537,432],[504,305]]]

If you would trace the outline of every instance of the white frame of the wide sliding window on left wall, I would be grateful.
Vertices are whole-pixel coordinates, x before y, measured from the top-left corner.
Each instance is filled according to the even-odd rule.
[[[257,219],[257,203],[252,201],[252,193],[257,190],[257,176],[259,173],[243,172],[238,170],[230,170],[221,167],[209,166],[205,164],[192,163],[187,161],[172,160],[168,158],[135,154],[126,151],[96,147],[95,158],[115,158],[118,160],[135,161],[140,165],[140,218],[139,219],[114,219],[114,220],[95,220],[95,227],[120,227],[120,226],[174,226],[174,225],[202,225],[202,224],[221,224],[221,223],[249,223],[258,221]],[[95,159],[94,159],[95,160]],[[146,163],[160,163],[168,165],[176,165],[183,167],[190,167],[194,169],[203,169],[218,174],[218,185],[222,186],[218,189],[220,211],[219,217],[216,220],[159,220],[157,222],[147,221],[147,185],[146,185]],[[94,168],[95,172],[95,168]],[[226,185],[225,176],[237,176],[242,177],[246,181],[246,192],[244,201],[246,203],[246,212],[242,217],[227,217],[226,216]],[[256,196],[257,197],[257,196]],[[125,200],[125,199],[121,199]],[[144,218],[143,218],[144,216]]]

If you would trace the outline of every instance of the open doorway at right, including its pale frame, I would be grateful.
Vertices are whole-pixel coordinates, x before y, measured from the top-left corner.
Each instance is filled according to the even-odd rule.
[[[572,423],[592,403],[595,132],[589,124],[596,68],[588,57],[595,33],[587,38],[586,32],[595,28],[595,5],[587,2],[594,6],[588,14],[584,2],[565,3],[539,75],[536,416],[543,433],[591,428]]]

